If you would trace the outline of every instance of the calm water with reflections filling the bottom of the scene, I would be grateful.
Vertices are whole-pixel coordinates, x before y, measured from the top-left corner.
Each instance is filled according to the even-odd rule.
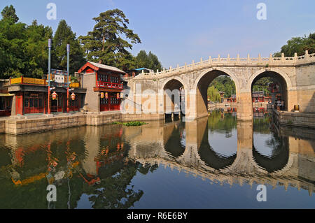
[[[215,110],[193,122],[2,134],[0,208],[315,208],[314,133]]]

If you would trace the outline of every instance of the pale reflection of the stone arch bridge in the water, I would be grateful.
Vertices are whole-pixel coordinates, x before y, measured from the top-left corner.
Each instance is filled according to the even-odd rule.
[[[255,134],[266,129],[255,129],[254,126],[253,122],[235,122],[237,152],[229,157],[211,148],[207,117],[186,124],[161,123],[158,128],[152,127],[159,129],[155,130],[152,145],[148,143],[151,131],[145,131],[151,127],[146,126],[141,128],[141,134],[130,138],[133,143],[129,157],[141,164],[162,164],[214,182],[269,184],[284,189],[291,186],[307,189],[311,195],[315,181],[314,141],[279,134],[273,138],[273,154],[268,157],[260,152],[262,145],[253,139]],[[269,123],[266,126],[269,131]],[[181,138],[179,132],[185,132],[185,138]]]

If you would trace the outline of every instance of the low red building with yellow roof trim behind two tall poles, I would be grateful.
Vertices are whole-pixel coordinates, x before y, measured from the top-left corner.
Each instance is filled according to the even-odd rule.
[[[51,113],[66,113],[67,96],[66,84],[55,80],[60,78],[53,73],[50,75],[50,110]],[[62,81],[66,81],[63,79]],[[69,85],[69,111],[79,111],[84,104],[86,89],[81,82]],[[7,86],[8,93],[13,95],[10,115],[45,114],[48,113],[48,80],[38,78],[10,78]],[[72,96],[71,96],[72,95]]]

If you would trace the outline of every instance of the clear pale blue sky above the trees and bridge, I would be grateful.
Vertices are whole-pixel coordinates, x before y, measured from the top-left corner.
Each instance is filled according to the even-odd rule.
[[[48,3],[57,6],[48,20]],[[265,3],[266,20],[258,20],[258,3]],[[13,5],[20,22],[52,27],[66,20],[77,36],[92,31],[97,17],[109,9],[123,10],[129,28],[141,44],[131,52],[153,52],[162,66],[183,66],[211,57],[269,57],[292,37],[315,31],[314,0],[1,0],[0,10]]]

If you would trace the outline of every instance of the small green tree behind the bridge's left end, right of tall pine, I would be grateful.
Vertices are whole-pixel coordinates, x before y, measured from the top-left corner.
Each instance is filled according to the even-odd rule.
[[[153,71],[162,71],[161,62],[151,51],[147,54],[145,50],[140,50],[136,57],[136,66],[137,68],[145,67],[146,69],[151,69]]]

